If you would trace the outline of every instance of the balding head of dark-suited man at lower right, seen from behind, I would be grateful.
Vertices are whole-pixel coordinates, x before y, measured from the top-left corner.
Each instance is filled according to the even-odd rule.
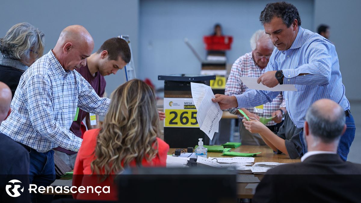
[[[306,129],[307,128],[307,129]],[[336,102],[321,99],[311,105],[306,113],[305,134],[311,135],[313,146],[316,141],[324,145],[338,146],[346,129],[345,112]],[[310,146],[310,143],[307,143]]]

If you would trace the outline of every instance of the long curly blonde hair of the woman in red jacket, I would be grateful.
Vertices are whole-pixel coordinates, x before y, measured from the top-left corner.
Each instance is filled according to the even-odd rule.
[[[91,163],[93,174],[121,172],[135,160],[141,165],[158,153],[159,116],[154,91],[139,79],[119,86],[111,95],[108,113],[97,137]]]

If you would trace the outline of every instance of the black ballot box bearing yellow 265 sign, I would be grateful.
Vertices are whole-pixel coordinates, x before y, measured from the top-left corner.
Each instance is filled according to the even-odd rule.
[[[164,81],[164,141],[170,148],[194,147],[199,138],[209,144],[208,136],[199,129],[191,82],[209,85],[215,78],[215,75],[158,75],[158,80]]]

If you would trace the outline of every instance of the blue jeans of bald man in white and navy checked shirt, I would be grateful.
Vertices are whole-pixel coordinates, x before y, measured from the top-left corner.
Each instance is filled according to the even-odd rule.
[[[28,147],[30,155],[30,184],[45,188],[55,181],[54,151],[37,152]],[[52,202],[53,195],[31,193],[32,203]]]

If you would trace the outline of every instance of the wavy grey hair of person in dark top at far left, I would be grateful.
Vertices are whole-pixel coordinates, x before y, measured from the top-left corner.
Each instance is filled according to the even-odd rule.
[[[44,33],[30,23],[18,23],[0,39],[0,52],[4,57],[30,63],[30,52],[36,59],[44,52]]]

